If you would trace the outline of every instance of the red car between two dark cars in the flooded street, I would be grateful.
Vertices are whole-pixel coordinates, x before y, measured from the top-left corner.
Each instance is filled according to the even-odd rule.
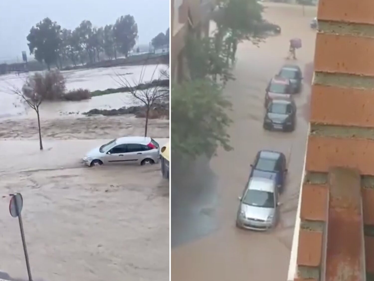
[[[292,99],[292,87],[289,79],[275,76],[270,80],[266,87],[264,103],[266,108],[273,99]]]

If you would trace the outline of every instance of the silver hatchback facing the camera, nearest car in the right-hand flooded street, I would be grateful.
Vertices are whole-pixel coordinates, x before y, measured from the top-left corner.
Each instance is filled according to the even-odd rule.
[[[251,230],[267,230],[279,220],[278,188],[275,181],[252,177],[239,197],[236,226]]]

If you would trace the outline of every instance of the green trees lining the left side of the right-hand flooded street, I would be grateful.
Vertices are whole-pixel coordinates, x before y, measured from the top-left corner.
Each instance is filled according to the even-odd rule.
[[[175,155],[212,157],[217,148],[232,149],[227,128],[231,103],[223,94],[226,82],[234,79],[232,66],[237,44],[250,40],[258,44],[277,27],[262,18],[263,7],[256,0],[220,0],[213,20],[212,37],[187,37],[186,59],[190,80],[172,86],[172,149]],[[173,152],[173,155],[174,155]],[[176,157],[176,159],[179,156]]]

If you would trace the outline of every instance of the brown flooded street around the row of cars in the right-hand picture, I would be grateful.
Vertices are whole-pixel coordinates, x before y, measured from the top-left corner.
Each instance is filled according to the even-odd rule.
[[[303,48],[295,61],[304,71],[313,61],[315,31],[309,27],[315,7],[264,4],[265,16],[281,26],[282,34],[260,47],[238,46],[235,81],[225,93],[233,103],[229,129],[233,151],[218,151],[210,163],[201,159],[182,179],[172,173],[172,280],[286,280],[308,130],[310,86],[295,96],[297,126],[292,133],[263,129],[264,96],[269,79],[290,61],[289,39],[299,37]],[[237,229],[236,212],[248,180],[250,164],[260,149],[283,152],[288,175],[281,195],[281,221],[275,230],[257,233]],[[191,176],[191,175],[194,175]],[[173,180],[174,179],[174,180]]]

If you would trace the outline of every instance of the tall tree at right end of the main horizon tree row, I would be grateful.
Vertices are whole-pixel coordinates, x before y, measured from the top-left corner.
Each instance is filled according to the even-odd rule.
[[[127,57],[138,39],[138,25],[134,16],[121,16],[114,24],[113,31],[117,50]]]

